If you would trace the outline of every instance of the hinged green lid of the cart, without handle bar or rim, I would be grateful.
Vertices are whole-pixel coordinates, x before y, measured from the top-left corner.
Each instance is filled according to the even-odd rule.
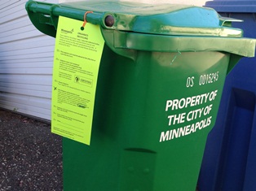
[[[214,9],[188,5],[136,2],[73,2],[62,4],[76,10],[104,12],[103,19],[113,17],[113,25],[104,28],[166,35],[242,37],[241,29],[228,28],[230,18],[223,18]]]

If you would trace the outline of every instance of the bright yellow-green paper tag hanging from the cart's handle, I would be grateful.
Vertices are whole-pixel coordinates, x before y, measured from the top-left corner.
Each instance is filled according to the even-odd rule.
[[[90,145],[104,39],[99,25],[60,16],[55,40],[51,132]]]

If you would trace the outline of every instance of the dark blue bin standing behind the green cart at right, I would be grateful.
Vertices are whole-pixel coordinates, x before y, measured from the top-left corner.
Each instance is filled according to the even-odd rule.
[[[232,23],[256,37],[256,1],[213,1],[205,7],[244,20]],[[227,75],[216,124],[210,132],[198,179],[200,191],[256,190],[256,58],[241,59]]]

